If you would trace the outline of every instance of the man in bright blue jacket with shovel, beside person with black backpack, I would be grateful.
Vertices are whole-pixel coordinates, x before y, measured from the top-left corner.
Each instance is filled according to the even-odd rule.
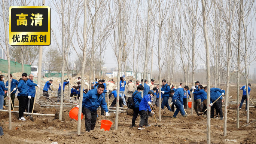
[[[140,101],[140,105],[139,105],[139,112],[140,112],[140,125],[138,127],[139,130],[144,129],[143,126],[145,125],[146,128],[149,127],[150,125],[148,124],[148,112],[147,111],[151,111],[150,108],[150,104],[151,104],[151,98],[153,96],[153,92],[149,91],[148,94],[146,96],[143,96],[143,98]],[[153,111],[151,111],[152,114]]]

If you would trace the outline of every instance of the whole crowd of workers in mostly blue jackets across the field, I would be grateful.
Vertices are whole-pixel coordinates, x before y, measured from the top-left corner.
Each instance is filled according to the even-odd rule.
[[[27,77],[26,73],[23,73],[21,76],[21,79],[19,81],[12,79],[12,74],[10,74],[10,80],[11,80],[11,86],[10,86],[10,97],[12,104],[14,105],[14,99],[15,99],[15,93],[18,94],[18,100],[19,100],[19,120],[25,121],[24,118],[24,112],[31,112],[34,102],[34,97],[36,95],[36,88],[40,88],[39,85],[33,82],[33,74],[30,74]],[[48,90],[52,89],[50,86],[52,86],[52,80],[49,80],[45,83],[45,86],[43,88],[43,95],[49,99]],[[141,83],[143,80],[141,80]],[[59,85],[58,89],[58,98],[60,99],[60,93],[61,93],[61,86],[63,86],[63,91],[65,88],[65,85],[69,83],[69,80],[64,80],[64,83]],[[110,87],[113,83],[115,85],[115,81],[110,80],[107,82],[108,86]],[[129,83],[132,83],[129,81]],[[177,118],[177,114],[180,112],[183,117],[188,116],[185,112],[184,105],[186,102],[184,101],[186,98],[188,98],[187,92],[189,92],[188,86],[184,86],[182,88],[182,83],[180,84],[179,88],[175,89],[173,85],[168,85],[166,80],[162,80],[162,87],[159,89],[159,85],[154,85],[155,80],[151,80],[151,82],[148,84],[147,80],[144,80],[144,86],[142,84],[139,84],[136,82],[137,89],[132,94],[132,99],[134,101],[134,107],[132,108],[134,113],[132,117],[132,127],[135,126],[135,120],[138,117],[138,114],[140,115],[140,124],[138,126],[138,129],[142,130],[144,129],[143,126],[149,127],[148,124],[148,117],[154,112],[151,110],[152,104],[155,104],[159,107],[159,93],[161,92],[161,108],[164,109],[164,107],[167,107],[168,110],[174,111],[174,107],[176,108],[173,117]],[[105,94],[106,92],[109,92],[107,90],[107,84],[105,83],[105,80],[98,80],[98,82],[95,82],[93,88],[91,90],[86,89],[83,91],[83,102],[82,102],[82,112],[85,115],[85,126],[86,131],[91,131],[95,127],[95,123],[97,120],[97,108],[101,107],[101,114],[104,115],[104,111],[106,112],[106,116],[109,116],[109,110],[107,108],[107,103],[105,100]],[[138,85],[139,84],[139,85]],[[77,82],[77,86],[73,86],[70,94],[70,98],[72,98],[75,95],[79,99],[80,93],[80,85],[81,82]],[[122,107],[122,105],[127,105],[125,102],[125,85],[126,81],[123,77],[120,77],[120,94],[119,94],[119,105]],[[133,87],[134,85],[131,84]],[[250,84],[248,84],[248,91],[250,94]],[[114,86],[112,86],[113,88]],[[129,84],[128,84],[129,87]],[[18,91],[17,91],[18,89]],[[246,100],[247,105],[247,99],[246,99],[246,86],[243,86],[240,88],[243,90],[243,97],[240,104],[240,109],[242,107],[242,104],[244,100]],[[0,75],[0,109],[5,108],[5,101],[3,100],[8,94],[4,94],[4,91],[8,90],[8,81],[4,85],[4,76]],[[74,91],[76,90],[76,91]],[[129,89],[131,90],[131,89]],[[141,96],[141,92],[143,92],[143,98]],[[190,89],[190,92],[194,95],[194,109],[196,111],[196,114],[199,115],[199,112],[202,112],[206,114],[207,109],[207,87],[203,87],[200,85],[199,82],[195,82],[195,86],[192,86]],[[112,103],[112,106],[116,104],[116,98],[117,98],[117,92],[116,88],[113,89],[111,94],[114,95],[115,100]],[[79,96],[78,96],[79,95]],[[211,118],[214,118],[214,109],[216,109],[216,114],[220,115],[220,120],[223,119],[223,112],[222,112],[222,98],[225,95],[225,91],[223,89],[219,88],[211,88],[210,89],[210,106],[211,106]],[[111,96],[111,95],[109,95]],[[153,102],[152,102],[153,98]],[[171,98],[171,107],[169,105],[169,98]],[[191,98],[190,98],[191,100]],[[10,105],[9,105],[10,106]],[[185,105],[186,106],[186,105]],[[13,110],[13,108],[12,108]]]

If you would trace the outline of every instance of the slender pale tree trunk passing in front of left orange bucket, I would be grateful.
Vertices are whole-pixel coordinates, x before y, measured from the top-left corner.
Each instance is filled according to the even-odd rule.
[[[86,40],[87,40],[87,15],[86,15],[86,9],[87,9],[87,0],[84,0],[83,5],[83,61],[82,61],[82,70],[81,70],[81,90],[83,91],[83,80],[84,80],[84,73],[85,73],[85,64],[86,64]],[[89,84],[90,85],[90,84]],[[80,99],[83,99],[83,92],[80,92]],[[77,121],[77,134],[80,135],[81,133],[81,114],[82,114],[82,103],[83,101],[79,101],[79,111],[78,111],[78,121]]]

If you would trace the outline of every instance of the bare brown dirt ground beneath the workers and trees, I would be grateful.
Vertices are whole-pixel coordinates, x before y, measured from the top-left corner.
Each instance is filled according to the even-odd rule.
[[[256,88],[251,87],[250,97],[256,99]],[[232,97],[230,101],[236,99],[236,87],[231,86]],[[240,91],[241,92],[241,91]],[[240,93],[240,99],[241,99]],[[15,99],[15,105],[18,100]],[[75,107],[75,105],[73,106]],[[154,106],[155,107],[155,106]],[[0,136],[0,144],[51,144],[57,141],[58,144],[145,144],[145,143],[182,143],[182,144],[204,144],[206,143],[206,117],[196,116],[195,111],[191,116],[191,108],[186,110],[188,117],[182,117],[178,114],[177,119],[172,119],[174,112],[167,109],[161,112],[161,127],[154,126],[155,120],[149,117],[150,127],[144,130],[138,130],[137,127],[131,128],[132,116],[126,113],[119,113],[118,130],[114,130],[115,113],[110,113],[108,120],[113,122],[110,131],[100,129],[100,120],[106,119],[99,115],[95,129],[85,132],[85,119],[82,119],[81,134],[77,135],[77,121],[68,116],[72,107],[64,108],[65,120],[60,121],[54,117],[34,116],[34,122],[25,117],[27,121],[18,120],[18,113],[12,113],[12,129],[9,130],[8,112],[0,112],[0,126],[2,126],[4,135]],[[243,105],[240,110],[240,126],[246,125],[246,112]],[[39,113],[55,114],[58,108],[41,107]],[[224,113],[224,108],[223,113]],[[158,118],[158,108],[155,107],[156,118]],[[15,108],[18,111],[18,108]],[[228,106],[227,136],[223,137],[223,120],[211,119],[211,143],[213,144],[253,144],[256,143],[256,122],[247,127],[237,129],[236,124],[236,104]],[[100,110],[98,110],[100,114]],[[234,120],[231,120],[234,119]],[[256,108],[250,108],[250,122],[256,119]],[[158,120],[157,120],[158,121]],[[138,126],[139,117],[135,125]],[[230,141],[228,141],[230,140]],[[231,142],[236,140],[237,142]]]

